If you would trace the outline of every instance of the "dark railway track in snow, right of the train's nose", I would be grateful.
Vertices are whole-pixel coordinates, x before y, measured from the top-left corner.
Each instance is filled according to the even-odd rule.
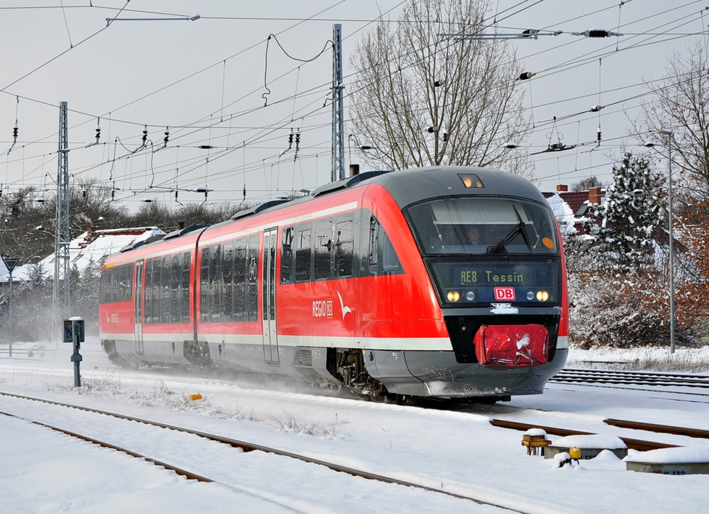
[[[564,369],[549,382],[574,384],[614,384],[652,387],[693,387],[709,389],[708,375],[656,373],[642,371],[609,371]]]

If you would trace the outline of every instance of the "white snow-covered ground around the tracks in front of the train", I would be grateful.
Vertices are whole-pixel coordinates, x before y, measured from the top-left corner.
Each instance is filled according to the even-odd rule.
[[[296,384],[269,384],[267,389],[245,379],[121,370],[108,362],[96,341],[82,345],[84,386],[74,389],[70,345],[44,346],[15,344],[11,359],[0,353],[0,392],[197,428],[525,513],[698,513],[709,502],[708,475],[627,472],[625,462],[608,452],[577,467],[556,468],[551,459],[525,455],[520,432],[488,422],[503,418],[574,428],[696,447],[703,453],[709,451],[709,440],[624,430],[605,425],[603,419],[707,428],[709,396],[549,384],[544,395],[518,396],[494,406],[421,409],[327,391],[318,395]],[[0,351],[6,348],[0,346]],[[657,351],[664,355],[665,350]],[[693,360],[700,353],[692,350],[684,358]],[[569,366],[635,358],[630,353],[574,352]],[[203,399],[191,401],[189,395],[196,393]],[[127,421],[119,424],[58,406],[0,396],[0,411],[108,440],[220,482],[188,481],[119,452],[0,416],[0,513],[503,512],[436,493],[372,484],[282,457],[240,455],[223,445],[181,440],[167,430],[133,428]]]

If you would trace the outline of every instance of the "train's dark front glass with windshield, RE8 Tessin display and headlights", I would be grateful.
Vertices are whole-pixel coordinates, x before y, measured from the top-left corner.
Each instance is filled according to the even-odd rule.
[[[552,211],[513,198],[442,198],[406,215],[443,306],[559,304],[561,254]]]

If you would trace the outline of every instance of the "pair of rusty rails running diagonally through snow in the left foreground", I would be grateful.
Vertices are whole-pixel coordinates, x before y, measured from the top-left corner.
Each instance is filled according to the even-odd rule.
[[[324,460],[313,459],[311,457],[306,457],[304,455],[298,455],[293,452],[286,452],[284,450],[277,450],[276,448],[271,448],[271,447],[267,447],[267,446],[263,446],[263,445],[257,445],[257,444],[250,443],[250,442],[235,440],[235,439],[231,439],[231,438],[225,438],[221,435],[215,435],[215,434],[210,434],[210,433],[206,433],[206,432],[201,432],[199,430],[191,430],[190,428],[168,425],[166,423],[160,423],[158,421],[150,421],[150,420],[146,420],[146,419],[142,419],[142,418],[134,418],[133,416],[125,416],[124,414],[118,414],[118,413],[113,413],[113,412],[109,412],[109,411],[101,411],[99,409],[91,409],[90,407],[84,407],[84,406],[79,406],[79,405],[65,404],[61,401],[53,401],[53,400],[47,400],[47,399],[42,399],[42,398],[33,398],[32,396],[23,396],[21,394],[0,392],[0,396],[9,396],[11,398],[18,398],[18,399],[23,399],[23,400],[28,400],[28,401],[39,401],[39,402],[42,402],[45,404],[67,407],[69,409],[78,409],[80,411],[86,411],[86,412],[97,413],[97,414],[104,414],[105,416],[113,416],[115,418],[119,418],[119,419],[123,419],[123,420],[127,420],[127,421],[135,421],[137,423],[145,423],[146,425],[156,426],[159,428],[168,428],[169,430],[177,430],[178,432],[184,432],[184,433],[188,433],[191,435],[196,435],[198,437],[206,438],[211,441],[221,442],[225,445],[230,445],[232,447],[241,448],[245,452],[252,452],[255,450],[260,450],[262,452],[272,453],[274,455],[281,455],[282,457],[290,457],[291,459],[300,460],[303,462],[307,462],[309,464],[318,464],[320,466],[332,469],[333,471],[336,471],[336,472],[346,473],[346,474],[350,474],[352,476],[359,476],[364,479],[384,482],[385,484],[396,484],[399,486],[412,487],[415,489],[423,489],[424,491],[429,491],[432,493],[440,493],[440,494],[445,494],[446,496],[452,496],[453,498],[472,501],[474,503],[478,503],[479,505],[486,505],[486,506],[501,508],[504,510],[509,510],[510,512],[515,512],[515,513],[520,513],[520,514],[527,514],[527,513],[525,513],[524,510],[517,510],[515,508],[500,505],[498,503],[492,503],[489,501],[480,500],[479,498],[473,498],[472,496],[465,496],[462,494],[457,494],[457,493],[452,493],[450,491],[445,491],[443,489],[437,489],[435,487],[429,487],[429,486],[424,486],[421,484],[415,484],[414,482],[409,482],[406,480],[398,480],[398,479],[393,479],[389,476],[364,472],[359,469],[354,469],[352,467],[341,466],[340,464],[334,464],[333,462],[326,462]],[[10,415],[10,416],[12,416],[12,415]],[[15,417],[18,417],[18,416],[15,416]],[[38,422],[33,421],[33,423],[38,423]],[[38,424],[41,425],[42,423],[38,423]],[[52,428],[52,429],[54,428],[51,426],[47,426],[47,427]],[[65,432],[62,429],[59,429],[59,430],[62,432]],[[68,432],[65,432],[65,433],[67,433],[69,435],[73,435]],[[80,437],[84,440],[90,440],[90,438],[84,438],[82,436],[79,436],[78,434],[77,434],[77,437]],[[91,440],[91,442],[94,442],[94,440]],[[101,443],[96,442],[96,444],[101,444]],[[122,450],[122,449],[119,449],[118,447],[116,447],[116,449],[128,452],[127,450]],[[135,454],[135,455],[138,455],[138,454]],[[147,457],[142,457],[142,458],[148,460]],[[152,462],[152,461],[150,461],[150,462]],[[157,463],[157,461],[156,461],[156,463]],[[163,463],[160,463],[158,465],[167,467],[167,465],[163,464]],[[173,468],[169,467],[168,469],[173,469]],[[174,468],[174,469],[177,469],[177,468]],[[208,480],[208,479],[206,479],[206,480]]]

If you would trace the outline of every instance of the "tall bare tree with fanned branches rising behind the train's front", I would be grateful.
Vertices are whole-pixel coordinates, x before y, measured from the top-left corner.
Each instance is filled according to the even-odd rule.
[[[501,40],[455,40],[482,33],[489,0],[411,0],[398,23],[380,21],[350,64],[352,134],[364,161],[387,169],[464,165],[533,176],[530,160],[506,143],[530,130],[520,67]]]

